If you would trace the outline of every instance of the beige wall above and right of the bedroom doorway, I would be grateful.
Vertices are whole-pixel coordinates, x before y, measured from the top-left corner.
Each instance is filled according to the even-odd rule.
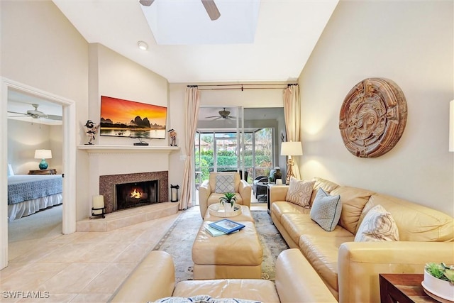
[[[0,5],[1,77],[74,101],[78,122],[74,132],[80,133],[88,110],[87,41],[52,1]],[[86,201],[87,153],[77,152],[76,160],[76,199]]]

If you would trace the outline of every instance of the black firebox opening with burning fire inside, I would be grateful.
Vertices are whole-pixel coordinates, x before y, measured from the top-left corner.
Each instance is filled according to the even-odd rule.
[[[158,202],[157,180],[115,184],[114,211]]]

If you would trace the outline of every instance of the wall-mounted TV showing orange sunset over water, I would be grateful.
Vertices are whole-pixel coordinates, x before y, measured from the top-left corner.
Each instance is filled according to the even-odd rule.
[[[167,107],[101,96],[100,136],[165,139]]]

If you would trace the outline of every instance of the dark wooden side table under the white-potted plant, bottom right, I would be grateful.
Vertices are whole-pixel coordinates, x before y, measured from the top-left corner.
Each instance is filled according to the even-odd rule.
[[[423,274],[380,274],[379,277],[382,303],[438,302],[424,292]]]

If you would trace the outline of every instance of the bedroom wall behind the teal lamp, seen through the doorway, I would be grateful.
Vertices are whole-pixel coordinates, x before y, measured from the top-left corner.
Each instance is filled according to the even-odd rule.
[[[36,149],[52,150],[52,159],[46,162],[49,168],[62,172],[62,126],[8,119],[8,163],[15,175],[39,170],[41,160],[35,159]]]

